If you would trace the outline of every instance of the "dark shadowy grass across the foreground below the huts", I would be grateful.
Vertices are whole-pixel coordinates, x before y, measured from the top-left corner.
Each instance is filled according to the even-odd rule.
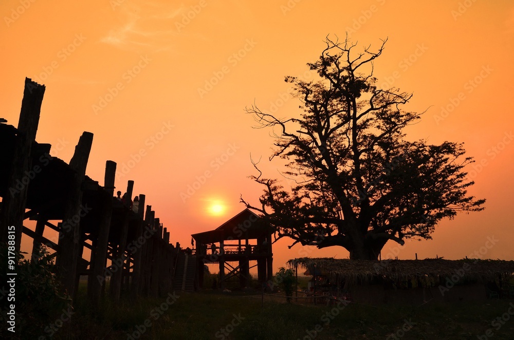
[[[305,306],[268,299],[263,308],[260,295],[211,291],[170,295],[168,302],[166,298],[145,298],[135,304],[106,301],[91,311],[79,299],[71,323],[52,338],[512,339],[514,315],[509,308],[514,314],[513,301],[373,307]],[[68,327],[70,337],[65,336]]]

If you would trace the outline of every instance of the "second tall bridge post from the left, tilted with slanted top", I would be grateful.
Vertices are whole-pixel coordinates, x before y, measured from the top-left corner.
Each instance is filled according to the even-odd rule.
[[[87,160],[93,144],[93,134],[84,132],[75,147],[75,153],[69,161],[69,166],[76,173],[71,181],[68,197],[64,207],[63,237],[59,239],[61,252],[57,255],[59,278],[67,293],[75,297],[75,280],[80,242],[80,215],[82,204],[81,185],[86,173]]]

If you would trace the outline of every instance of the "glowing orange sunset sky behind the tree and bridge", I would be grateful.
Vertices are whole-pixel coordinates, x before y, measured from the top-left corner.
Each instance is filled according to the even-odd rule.
[[[351,30],[359,46],[389,37],[375,63],[379,83],[414,92],[407,109],[428,108],[409,138],[465,142],[475,165],[485,165],[473,173],[471,192],[487,202],[483,212],[441,222],[433,240],[388,243],[382,254],[456,259],[494,237],[481,256],[514,259],[508,0],[8,0],[0,13],[0,117],[17,124],[25,77],[45,84],[36,139],[69,161],[82,131],[94,133],[87,175],[102,183],[105,161],[117,162],[117,187],[124,192],[126,180],[134,180],[135,194],[146,195],[172,241],[184,247],[190,234],[243,210],[241,194],[257,201],[262,188],[247,178],[254,174],[250,153],[262,156],[266,177],[284,169],[267,161],[270,131],[252,129],[244,108],[255,102],[280,117],[298,115],[284,76],[309,77],[305,64],[318,58],[327,34]],[[206,172],[191,197],[181,195]],[[225,206],[224,213],[211,216],[212,204]],[[343,248],[287,244],[276,243],[275,268],[305,254],[348,256]]]

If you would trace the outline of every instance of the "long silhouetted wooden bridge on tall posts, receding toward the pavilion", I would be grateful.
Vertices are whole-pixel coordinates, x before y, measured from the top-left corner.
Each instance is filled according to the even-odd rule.
[[[80,275],[88,276],[87,293],[94,304],[107,277],[115,300],[122,292],[133,298],[167,295],[179,244],[170,244],[170,233],[152,206],[144,209],[144,194],[138,195],[137,208],[131,206],[134,181],[126,184],[124,202],[114,197],[115,162],[106,161],[103,185],[85,175],[93,134],[80,136],[68,164],[50,156],[50,144],[35,141],[44,92],[44,85],[25,79],[17,128],[0,123],[2,241],[7,242],[8,226],[14,225],[17,251],[22,234],[33,239],[34,249],[41,243],[53,249],[57,273],[71,297]],[[27,219],[36,221],[35,231],[23,225]],[[59,232],[58,242],[43,236],[45,228]],[[82,256],[84,247],[91,251],[89,260]]]

